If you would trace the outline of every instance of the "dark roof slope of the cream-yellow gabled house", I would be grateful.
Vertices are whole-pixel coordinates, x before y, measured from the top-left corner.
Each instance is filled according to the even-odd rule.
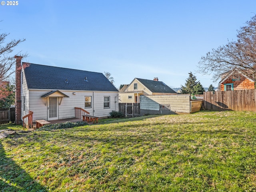
[[[141,82],[146,88],[148,88],[152,93],[176,93],[173,89],[168,87],[162,81],[154,81],[148,79],[136,78]]]

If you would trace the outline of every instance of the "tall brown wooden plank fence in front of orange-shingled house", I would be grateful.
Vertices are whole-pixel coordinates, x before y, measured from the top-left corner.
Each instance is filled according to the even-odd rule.
[[[256,111],[256,90],[204,92],[205,110]]]

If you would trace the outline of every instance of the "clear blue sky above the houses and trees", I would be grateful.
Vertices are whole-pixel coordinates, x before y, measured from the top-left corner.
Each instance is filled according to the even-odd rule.
[[[201,56],[255,14],[255,0],[20,0],[0,5],[0,32],[26,38],[14,50],[24,62],[110,72],[116,87],[158,77],[176,88],[190,71],[209,87]]]

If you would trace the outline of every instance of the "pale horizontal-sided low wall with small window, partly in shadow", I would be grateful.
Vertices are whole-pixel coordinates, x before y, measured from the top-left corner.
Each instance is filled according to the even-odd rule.
[[[164,112],[159,105],[170,105],[171,112],[190,113],[190,95],[147,95],[140,96],[140,109],[146,111]]]

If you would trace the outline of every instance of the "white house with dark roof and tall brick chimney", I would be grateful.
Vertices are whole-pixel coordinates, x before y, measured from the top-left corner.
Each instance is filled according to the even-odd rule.
[[[17,69],[22,57],[16,59]],[[16,84],[16,123],[29,111],[33,111],[34,122],[74,118],[75,107],[98,117],[118,110],[118,90],[102,73],[29,64],[16,70]]]

